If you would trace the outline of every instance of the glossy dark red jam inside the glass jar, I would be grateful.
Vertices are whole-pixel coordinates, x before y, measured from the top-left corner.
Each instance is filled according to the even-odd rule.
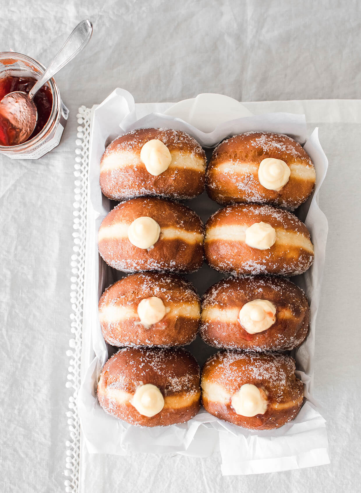
[[[34,77],[13,77],[11,75],[0,79],[0,101],[6,94],[14,91],[28,93],[36,83]],[[53,106],[53,96],[49,87],[42,86],[35,95],[34,103],[37,109],[37,122],[34,132],[29,137],[33,139],[45,126],[49,119]],[[0,145],[12,145],[12,139],[16,135],[17,129],[12,127],[6,118],[0,114]]]

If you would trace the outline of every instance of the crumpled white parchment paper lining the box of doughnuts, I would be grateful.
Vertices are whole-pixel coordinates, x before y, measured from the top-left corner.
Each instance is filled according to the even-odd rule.
[[[128,451],[149,453],[179,453],[206,457],[219,448],[222,474],[253,474],[296,469],[329,462],[325,420],[312,399],[313,356],[316,316],[325,261],[327,221],[317,203],[318,191],[325,178],[327,159],[318,140],[318,129],[307,139],[303,115],[269,113],[232,120],[205,134],[184,121],[162,115],[169,105],[135,105],[133,97],[116,89],[94,109],[89,154],[89,188],[87,215],[86,273],[84,290],[82,383],[78,409],[83,436],[90,453],[125,455]],[[312,197],[298,209],[315,246],[315,261],[306,274],[293,278],[306,292],[310,301],[310,333],[305,343],[294,352],[297,374],[305,386],[307,401],[291,423],[273,431],[250,431],[225,423],[204,409],[188,423],[169,427],[139,428],[106,414],[96,397],[96,387],[102,366],[114,349],[104,342],[98,321],[98,300],[104,289],[121,277],[100,258],[97,233],[101,221],[113,207],[102,196],[99,187],[99,162],[106,144],[119,134],[134,128],[168,127],[184,130],[203,146],[213,147],[222,139],[246,131],[286,133],[300,143],[316,168],[316,187]],[[120,128],[119,128],[120,127]],[[187,203],[205,221],[219,206],[206,194]],[[204,265],[187,276],[199,293],[222,275]],[[188,348],[200,364],[214,348],[197,340]]]

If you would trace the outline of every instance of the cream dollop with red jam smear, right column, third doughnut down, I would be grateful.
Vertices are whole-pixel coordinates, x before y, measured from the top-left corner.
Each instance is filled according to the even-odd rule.
[[[249,334],[263,332],[276,321],[276,307],[268,300],[252,300],[239,312],[239,321]]]

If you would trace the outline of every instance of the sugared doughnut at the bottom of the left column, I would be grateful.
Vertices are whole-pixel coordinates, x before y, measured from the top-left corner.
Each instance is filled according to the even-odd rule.
[[[182,348],[123,348],[103,367],[98,400],[137,426],[184,423],[200,409],[199,380],[198,363]]]

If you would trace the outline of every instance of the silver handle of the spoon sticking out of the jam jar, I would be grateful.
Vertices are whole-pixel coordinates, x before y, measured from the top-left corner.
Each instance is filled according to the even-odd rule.
[[[42,74],[41,78],[36,82],[29,92],[29,98],[32,100],[41,86],[45,84],[56,72],[62,69],[70,62],[90,41],[92,36],[93,26],[89,20],[79,22],[72,34],[63,44],[59,53],[51,62],[49,67]]]

